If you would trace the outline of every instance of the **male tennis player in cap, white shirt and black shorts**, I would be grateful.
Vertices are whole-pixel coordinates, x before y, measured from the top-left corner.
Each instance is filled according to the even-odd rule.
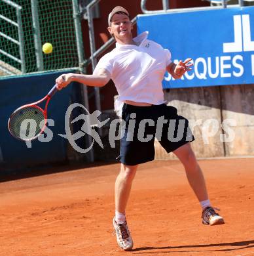
[[[152,134],[159,137],[158,140],[165,150],[168,153],[173,152],[183,163],[189,183],[202,207],[202,223],[223,224],[223,217],[211,207],[204,176],[192,152],[190,142],[194,138],[188,120],[178,116],[175,108],[166,105],[162,91],[165,72],[168,71],[175,79],[181,78],[185,72],[191,70],[191,58],[174,64],[170,51],[147,39],[147,32],[133,38],[132,22],[128,11],[123,7],[115,7],[109,13],[108,22],[107,29],[115,37],[116,47],[100,59],[94,74],[65,74],[58,77],[56,83],[58,89],[67,86],[71,81],[102,87],[109,79],[113,79],[117,88],[119,96],[116,110],[121,110],[122,119],[126,122],[122,131],[124,135],[120,141],[120,173],[115,182],[113,226],[118,245],[124,250],[133,247],[132,236],[126,222],[126,205],[137,166],[154,160],[154,136],[147,141],[144,138],[140,139],[138,134],[139,123],[147,119],[151,120],[145,127],[147,136]],[[183,136],[178,140],[168,139],[168,130],[172,129],[170,120],[175,121],[172,135],[181,130]],[[134,133],[130,136],[128,128],[133,125]],[[159,126],[163,128],[162,133],[158,135],[156,127]]]

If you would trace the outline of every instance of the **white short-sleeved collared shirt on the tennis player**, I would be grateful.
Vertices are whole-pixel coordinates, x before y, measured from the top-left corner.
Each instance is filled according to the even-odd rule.
[[[171,60],[171,53],[161,45],[147,39],[148,32],[134,38],[139,45],[120,45],[105,54],[98,62],[94,74],[107,70],[117,88],[115,111],[119,113],[124,100],[159,105],[165,102],[162,79]],[[120,113],[119,113],[120,114]]]

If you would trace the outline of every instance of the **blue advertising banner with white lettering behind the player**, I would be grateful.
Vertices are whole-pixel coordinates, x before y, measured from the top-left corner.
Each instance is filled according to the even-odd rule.
[[[172,53],[173,62],[192,58],[181,79],[166,73],[164,88],[254,83],[254,7],[143,14],[137,33]]]

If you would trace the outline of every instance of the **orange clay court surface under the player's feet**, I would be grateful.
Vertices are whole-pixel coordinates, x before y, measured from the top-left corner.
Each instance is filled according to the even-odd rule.
[[[254,255],[254,158],[200,165],[226,223],[201,223],[179,161],[145,163],[127,210],[129,252],[112,234],[118,163],[1,182],[0,255]]]

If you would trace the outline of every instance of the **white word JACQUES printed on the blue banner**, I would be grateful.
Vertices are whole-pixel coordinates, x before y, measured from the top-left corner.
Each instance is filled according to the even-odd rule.
[[[181,79],[186,78],[188,80],[192,80],[195,77],[198,79],[216,79],[217,77],[241,77],[244,74],[244,57],[242,55],[216,56],[215,58],[208,57],[207,59],[199,57],[196,58],[196,60],[193,60],[193,62],[193,70],[186,72]],[[213,62],[215,62],[215,64]],[[254,66],[254,55],[252,62]],[[168,72],[165,74],[164,79],[165,81],[174,80]]]

